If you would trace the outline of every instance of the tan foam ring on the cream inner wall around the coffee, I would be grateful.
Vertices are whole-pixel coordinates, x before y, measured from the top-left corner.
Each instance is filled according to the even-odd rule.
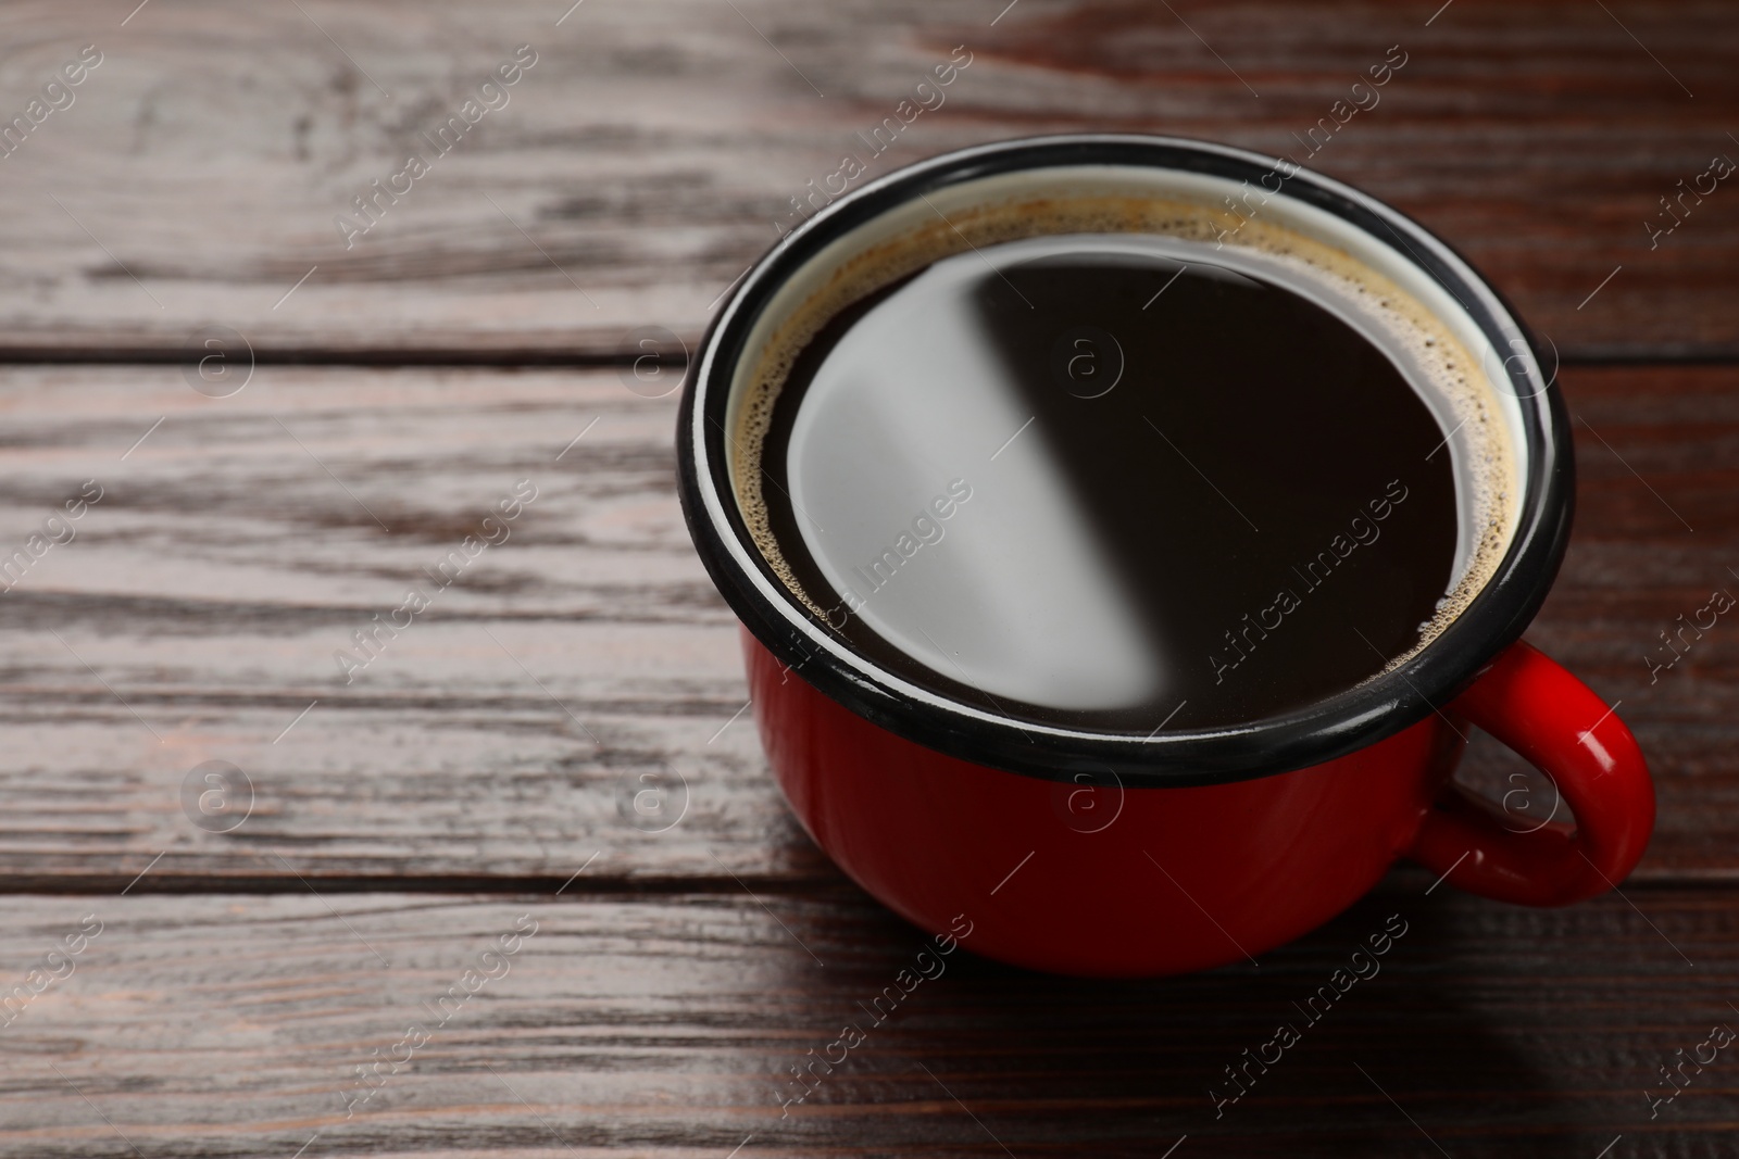
[[[796,356],[833,316],[955,254],[1050,235],[1149,235],[1184,247],[1209,247],[1198,252],[1196,261],[1266,275],[1334,309],[1400,365],[1407,381],[1431,405],[1440,429],[1449,431],[1445,450],[1456,466],[1462,535],[1457,580],[1431,620],[1421,627],[1419,643],[1389,660],[1383,671],[1423,652],[1496,573],[1520,518],[1518,407],[1487,372],[1487,367],[1501,367],[1501,358],[1483,337],[1466,332],[1471,323],[1464,334],[1457,334],[1440,313],[1395,278],[1358,261],[1341,245],[1282,224],[1282,212],[1264,207],[1271,214],[1268,219],[1242,217],[1205,203],[1205,196],[1202,196],[1202,189],[1191,189],[1186,196],[1106,193],[1096,191],[1096,186],[1106,184],[1103,177],[1071,181],[1066,174],[1068,170],[1056,181],[1061,188],[1031,191],[1035,182],[1026,181],[1028,191],[1016,191],[1012,196],[967,196],[972,186],[995,186],[998,179],[955,186],[944,191],[949,195],[946,202],[937,193],[930,195],[932,207],[918,203],[927,219],[909,212],[909,207],[901,207],[906,212],[890,210],[887,217],[899,215],[906,221],[894,229],[887,222],[875,229],[876,222],[870,222],[831,243],[776,295],[751,332],[753,353],[737,367],[727,410],[732,490],[769,568],[817,620],[826,622],[830,610],[836,612],[831,594],[819,593],[817,599],[817,593],[805,591],[798,582],[774,539],[762,492],[767,478],[762,471],[762,448],[774,405]],[[1181,174],[1177,177],[1186,179]],[[1009,181],[1000,179],[1000,184]],[[1221,179],[1193,177],[1189,184],[1236,189]],[[939,202],[948,205],[946,217],[934,205]],[[1294,207],[1287,215],[1306,214],[1327,217],[1309,207]],[[864,233],[871,236],[861,238]],[[1469,351],[1464,337],[1476,337],[1482,348],[1478,356]],[[1473,528],[1480,528],[1478,535],[1473,535]]]

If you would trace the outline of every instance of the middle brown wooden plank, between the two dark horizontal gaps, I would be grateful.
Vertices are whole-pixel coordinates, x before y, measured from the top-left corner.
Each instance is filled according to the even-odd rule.
[[[1720,619],[1654,683],[1643,657],[1739,591],[1739,370],[1563,377],[1581,509],[1530,638],[1643,742],[1661,822],[1640,874],[1732,879],[1739,632]],[[118,890],[160,853],[141,890],[560,883],[593,855],[588,876],[647,886],[835,881],[739,714],[734,619],[673,493],[673,407],[598,370],[261,367],[226,400],[167,367],[0,374],[0,556],[83,480],[104,488],[0,594],[0,883]],[[435,593],[423,568],[522,478],[539,490],[510,539]],[[407,584],[431,606],[346,685],[334,652]],[[205,761],[252,782],[233,831],[184,810]],[[1476,740],[1466,775],[1502,796],[1520,768]],[[647,832],[682,782],[687,811]],[[673,811],[630,824],[659,785]],[[1511,805],[1525,822],[1551,799]]]

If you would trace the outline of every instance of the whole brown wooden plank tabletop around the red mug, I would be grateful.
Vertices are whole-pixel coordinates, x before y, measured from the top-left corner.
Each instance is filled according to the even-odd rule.
[[[134,2],[0,9],[5,118],[101,54],[0,160],[0,554],[101,488],[0,596],[0,1154],[1739,1154],[1739,1053],[1659,1072],[1739,1025],[1739,626],[1645,660],[1739,591],[1739,191],[1661,203],[1739,158],[1730,7]],[[786,1116],[920,935],[769,780],[675,396],[623,363],[692,346],[956,45],[871,172],[1078,129],[1297,151],[1398,45],[1313,165],[1551,339],[1581,506],[1529,638],[1622,702],[1661,820],[1567,911],[1402,867],[1256,968],[956,957]],[[346,683],[518,480],[510,540]],[[1548,806],[1489,738],[1464,777]],[[1216,1117],[1389,914],[1381,977]]]

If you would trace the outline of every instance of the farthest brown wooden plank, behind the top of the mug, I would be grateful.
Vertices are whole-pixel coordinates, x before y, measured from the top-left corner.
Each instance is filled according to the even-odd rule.
[[[273,356],[583,358],[654,323],[692,342],[843,153],[883,174],[988,139],[1141,130],[1290,151],[1369,188],[1569,354],[1739,356],[1739,195],[1661,205],[1739,156],[1720,5],[563,9],[7,5],[5,116],[80,45],[103,63],[3,162],[0,353],[176,358],[207,323]],[[435,156],[424,134],[522,43],[537,63],[508,103]],[[864,136],[955,45],[972,63],[946,103],[870,156]],[[1405,66],[1381,103],[1306,156],[1389,45]],[[412,151],[430,172],[346,248],[336,217]],[[1680,215],[1650,245],[1645,222]]]

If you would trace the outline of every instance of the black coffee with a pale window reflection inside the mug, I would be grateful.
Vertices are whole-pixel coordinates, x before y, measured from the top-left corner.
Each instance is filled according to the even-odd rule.
[[[1349,688],[1466,556],[1445,429],[1383,349],[1111,235],[948,257],[836,315],[760,462],[812,613],[920,686],[1076,728]]]

